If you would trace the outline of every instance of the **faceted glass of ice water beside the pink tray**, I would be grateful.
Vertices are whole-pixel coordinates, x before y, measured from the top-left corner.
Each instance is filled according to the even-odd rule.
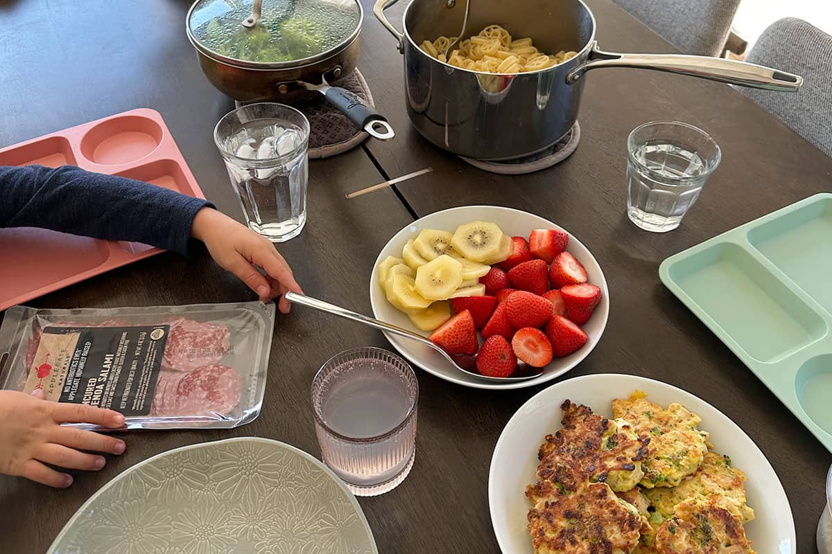
[[[288,105],[261,102],[225,114],[214,141],[249,227],[273,243],[306,223],[310,122]]]

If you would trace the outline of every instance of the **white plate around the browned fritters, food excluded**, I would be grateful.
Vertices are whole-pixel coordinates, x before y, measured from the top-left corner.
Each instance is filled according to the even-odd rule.
[[[718,453],[728,454],[748,481],[745,493],[756,518],[745,524],[746,537],[759,554],[795,554],[797,539],[789,500],[765,454],[725,414],[705,400],[661,381],[635,375],[584,375],[564,380],[532,396],[508,420],[494,447],[488,475],[488,504],[497,542],[506,554],[532,554],[526,525],[531,507],[526,486],[537,481],[537,449],[561,425],[561,404],[572,400],[612,417],[612,400],[643,390],[647,399],[666,407],[678,402],[701,417],[700,429],[711,433]]]

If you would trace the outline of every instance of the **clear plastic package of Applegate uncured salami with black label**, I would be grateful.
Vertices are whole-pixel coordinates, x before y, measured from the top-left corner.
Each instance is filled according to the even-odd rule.
[[[128,429],[237,427],[260,414],[274,326],[272,302],[14,306],[0,326],[0,388],[115,409]]]

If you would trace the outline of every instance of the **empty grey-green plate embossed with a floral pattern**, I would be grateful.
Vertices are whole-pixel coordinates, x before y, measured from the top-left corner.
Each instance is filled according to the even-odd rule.
[[[148,458],[104,485],[54,554],[378,554],[359,503],[302,450],[243,437]]]

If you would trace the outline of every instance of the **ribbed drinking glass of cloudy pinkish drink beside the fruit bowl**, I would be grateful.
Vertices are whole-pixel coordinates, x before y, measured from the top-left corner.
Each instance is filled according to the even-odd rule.
[[[387,493],[410,473],[417,401],[414,370],[380,348],[341,352],[314,376],[322,458],[356,496]]]

